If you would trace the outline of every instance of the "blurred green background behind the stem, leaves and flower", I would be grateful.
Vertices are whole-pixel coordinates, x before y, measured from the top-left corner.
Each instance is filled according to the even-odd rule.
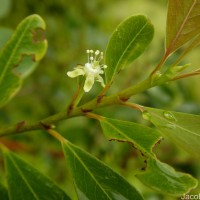
[[[17,96],[0,110],[0,127],[21,120],[39,120],[66,109],[77,89],[77,81],[67,77],[66,72],[76,64],[86,62],[86,49],[105,51],[112,31],[130,15],[147,15],[155,26],[155,36],[145,53],[118,75],[110,93],[148,76],[164,52],[167,0],[0,0],[0,47],[17,24],[34,13],[46,22],[48,51],[33,74],[24,81]],[[181,49],[167,64],[180,52]],[[200,48],[197,48],[184,59],[183,63],[191,63],[190,70],[199,67],[199,53]],[[131,101],[155,108],[200,114],[199,85],[199,77],[188,78],[152,88]],[[84,96],[82,103],[92,99],[100,90],[101,87],[96,84]],[[111,106],[97,112],[107,117],[148,124],[140,113],[127,108]],[[120,172],[144,193],[146,199],[176,199],[157,194],[136,180],[134,174],[144,166],[144,158],[127,144],[108,142],[96,121],[83,117],[69,119],[59,122],[57,130]],[[76,199],[59,142],[44,131],[5,137],[1,142],[53,178]],[[167,139],[155,151],[161,161],[200,178],[199,161]],[[0,154],[0,181],[4,179]],[[194,194],[197,191],[193,191]]]

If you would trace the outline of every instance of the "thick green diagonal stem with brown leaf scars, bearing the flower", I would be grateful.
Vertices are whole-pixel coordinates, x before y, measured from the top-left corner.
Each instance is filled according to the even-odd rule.
[[[163,83],[159,83],[159,84],[163,84]],[[62,111],[33,123],[24,121],[23,123],[19,122],[15,125],[11,125],[9,127],[3,128],[0,130],[0,137],[13,135],[13,134],[19,134],[19,133],[33,131],[33,130],[41,130],[44,128],[42,124],[51,125],[51,124],[55,124],[58,121],[65,120],[68,118],[72,118],[76,116],[84,116],[86,115],[86,113],[91,112],[97,108],[101,108],[101,107],[105,107],[109,105],[120,105],[121,104],[120,99],[128,100],[128,98],[130,98],[131,96],[141,93],[151,87],[152,87],[151,79],[147,78],[146,80],[143,80],[142,82],[136,85],[133,85],[125,90],[122,90],[116,94],[113,94],[111,96],[105,96],[101,100],[101,102],[97,102],[98,97],[96,97],[82,106],[73,108],[70,113],[67,113],[66,111]]]

